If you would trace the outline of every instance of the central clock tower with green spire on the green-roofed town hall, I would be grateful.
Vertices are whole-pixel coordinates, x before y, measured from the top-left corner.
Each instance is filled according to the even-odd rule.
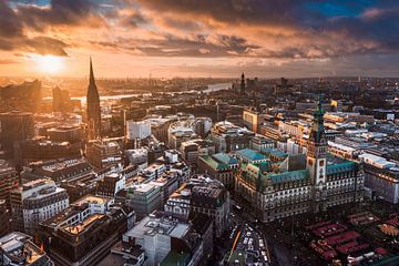
[[[314,212],[323,211],[325,200],[325,187],[327,182],[327,140],[324,129],[325,111],[321,106],[321,96],[317,103],[317,110],[314,114],[313,126],[306,150],[306,167],[310,174],[313,186]]]

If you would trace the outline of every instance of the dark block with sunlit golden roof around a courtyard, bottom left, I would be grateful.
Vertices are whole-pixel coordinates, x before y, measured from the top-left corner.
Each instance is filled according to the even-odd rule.
[[[86,195],[40,224],[39,236],[59,266],[98,265],[134,223],[131,209]]]

